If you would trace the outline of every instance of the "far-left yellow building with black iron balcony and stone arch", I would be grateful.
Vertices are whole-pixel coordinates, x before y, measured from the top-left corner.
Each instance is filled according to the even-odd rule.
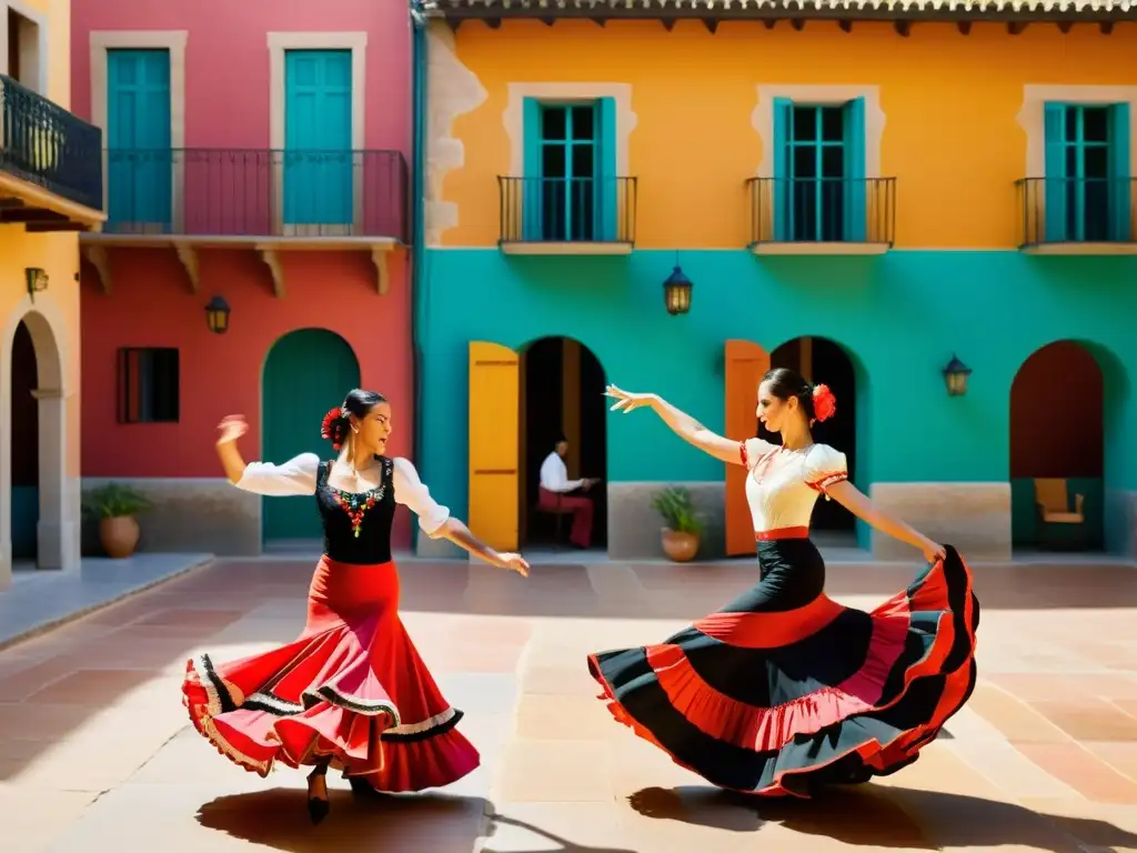
[[[68,111],[67,0],[0,1],[0,590],[80,558],[78,233],[101,138]]]

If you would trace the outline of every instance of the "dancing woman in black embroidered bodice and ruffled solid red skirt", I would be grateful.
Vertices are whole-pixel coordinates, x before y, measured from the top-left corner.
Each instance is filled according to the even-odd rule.
[[[523,577],[518,554],[498,554],[437,504],[407,459],[383,455],[391,406],[354,390],[324,419],[322,434],[342,452],[334,462],[301,454],[283,465],[244,464],[236,439],[248,426],[226,417],[217,455],[229,479],[258,495],[314,495],[324,555],[308,591],[304,632],[290,645],[232,663],[200,655],[182,687],[194,728],[235,763],[267,776],[277,761],[313,767],[308,812],[329,812],[325,775],[343,771],[356,794],[449,785],[479,764],[450,707],[399,620],[399,575],[391,561],[395,505],[422,530]]]

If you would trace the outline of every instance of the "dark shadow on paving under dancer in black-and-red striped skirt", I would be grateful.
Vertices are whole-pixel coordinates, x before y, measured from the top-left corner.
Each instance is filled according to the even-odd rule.
[[[1077,853],[1137,846],[1137,835],[1101,820],[1044,814],[1013,803],[894,786],[832,788],[813,800],[765,800],[709,787],[653,787],[628,800],[647,818],[735,831],[747,820],[758,831],[765,823],[777,823],[802,835],[862,847],[1021,845]]]

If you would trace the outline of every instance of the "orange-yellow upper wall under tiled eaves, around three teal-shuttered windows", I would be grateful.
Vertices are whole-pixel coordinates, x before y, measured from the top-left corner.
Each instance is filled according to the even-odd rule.
[[[1003,25],[977,24],[964,36],[954,25],[918,24],[901,38],[887,24],[856,24],[850,34],[836,23],[803,32],[724,24],[712,35],[695,22],[671,33],[654,22],[518,20],[496,31],[474,22],[454,42],[456,63],[431,59],[430,97],[432,133],[463,148],[463,165],[440,166],[432,156],[434,201],[457,210],[440,243],[456,247],[498,239],[511,82],[631,85],[629,173],[639,177],[642,248],[746,245],[744,181],[762,159],[752,124],[758,84],[879,86],[880,174],[897,177],[901,248],[1016,245],[1014,182],[1027,176],[1016,115],[1027,84],[1137,85],[1137,25],[1128,24],[1109,36],[1090,25],[1063,35],[1036,24],[1012,36]],[[479,84],[484,99],[451,121],[440,99]]]

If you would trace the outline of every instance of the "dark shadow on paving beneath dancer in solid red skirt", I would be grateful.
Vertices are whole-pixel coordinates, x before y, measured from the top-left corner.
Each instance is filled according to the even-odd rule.
[[[360,801],[332,789],[329,796],[332,813],[319,826],[308,821],[306,793],[297,788],[217,797],[199,809],[197,820],[207,829],[291,853],[337,848],[470,853],[484,815],[492,811],[482,797],[434,793]]]

